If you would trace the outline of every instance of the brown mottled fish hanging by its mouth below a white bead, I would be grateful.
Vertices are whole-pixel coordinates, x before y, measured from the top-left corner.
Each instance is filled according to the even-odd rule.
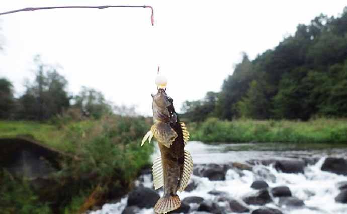
[[[167,213],[178,209],[181,201],[177,191],[182,192],[193,172],[192,156],[184,150],[189,140],[189,133],[183,122],[180,122],[173,100],[166,94],[167,80],[157,76],[155,81],[158,92],[153,95],[153,122],[150,131],[143,137],[141,146],[154,136],[158,141],[161,156],[153,162],[154,188],[164,186],[164,195],[154,206],[155,213]]]

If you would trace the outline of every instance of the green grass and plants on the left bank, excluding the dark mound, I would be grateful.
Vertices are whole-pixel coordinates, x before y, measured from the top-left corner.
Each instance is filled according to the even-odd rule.
[[[32,191],[22,179],[9,178],[8,173],[0,174],[0,183],[12,180],[0,189],[0,196],[9,195],[0,199],[2,210],[5,213],[84,213],[98,202],[123,196],[140,170],[149,165],[153,147],[150,144],[140,147],[149,127],[144,118],[116,115],[59,125],[0,121],[0,138],[25,136],[78,157],[78,160],[62,160],[62,169],[51,176],[57,187],[52,187],[47,194],[54,194],[53,197]],[[86,179],[89,176],[93,178]],[[13,186],[17,186],[17,190]],[[93,194],[95,189],[98,194]],[[23,197],[19,195],[22,192],[31,196],[15,205],[13,200]],[[45,201],[45,198],[56,201]],[[49,204],[58,205],[52,208]]]

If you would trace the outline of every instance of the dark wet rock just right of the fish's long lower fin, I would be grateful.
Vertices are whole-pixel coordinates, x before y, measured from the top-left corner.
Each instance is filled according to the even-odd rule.
[[[193,174],[199,177],[207,177],[209,180],[225,180],[228,166],[218,164],[198,165],[193,169]]]

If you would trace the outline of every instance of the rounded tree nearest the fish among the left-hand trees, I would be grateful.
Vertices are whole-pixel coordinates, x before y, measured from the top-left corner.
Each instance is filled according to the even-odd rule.
[[[74,102],[74,107],[79,108],[85,116],[91,116],[95,119],[112,112],[111,105],[105,100],[101,92],[85,86],[74,97]]]

